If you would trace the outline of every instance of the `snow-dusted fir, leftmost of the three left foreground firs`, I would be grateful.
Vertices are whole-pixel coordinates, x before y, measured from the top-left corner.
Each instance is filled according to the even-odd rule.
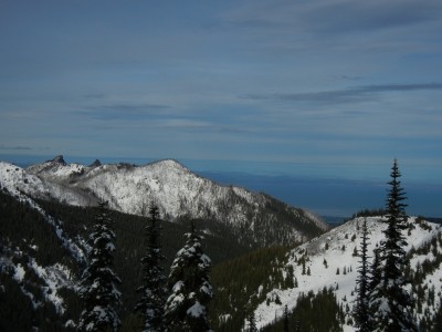
[[[99,212],[95,216],[93,232],[87,241],[87,267],[80,288],[85,305],[80,317],[80,331],[117,331],[120,324],[116,311],[120,298],[116,284],[120,280],[113,271],[115,232],[106,206],[107,203],[99,204]]]

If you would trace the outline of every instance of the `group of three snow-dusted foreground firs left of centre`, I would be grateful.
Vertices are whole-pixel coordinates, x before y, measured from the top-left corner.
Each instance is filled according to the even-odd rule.
[[[85,303],[78,330],[86,332],[117,331],[120,279],[113,271],[115,234],[105,204],[101,204],[94,231],[88,240],[87,266],[83,272],[80,295]],[[143,284],[135,310],[143,315],[143,331],[210,331],[208,303],[213,297],[209,279],[211,261],[203,253],[193,222],[186,234],[185,247],[178,251],[166,284],[160,249],[160,218],[152,204],[146,226],[146,255],[141,258]],[[167,298],[167,293],[170,295]]]

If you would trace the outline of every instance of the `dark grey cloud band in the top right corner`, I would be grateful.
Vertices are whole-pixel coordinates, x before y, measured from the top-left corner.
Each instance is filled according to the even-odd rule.
[[[320,33],[379,30],[440,21],[442,2],[412,1],[261,1],[232,11],[225,20],[252,29],[290,29]]]

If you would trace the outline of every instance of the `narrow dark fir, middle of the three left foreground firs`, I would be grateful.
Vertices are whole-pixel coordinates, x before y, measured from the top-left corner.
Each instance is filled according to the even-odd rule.
[[[143,286],[137,289],[141,294],[135,305],[144,317],[144,332],[156,332],[164,330],[162,314],[166,302],[166,277],[161,262],[166,259],[161,255],[160,246],[160,216],[156,204],[151,204],[146,230],[146,253],[141,258]]]

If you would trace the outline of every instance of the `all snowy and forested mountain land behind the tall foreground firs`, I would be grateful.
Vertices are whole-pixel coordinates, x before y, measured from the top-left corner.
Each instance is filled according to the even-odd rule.
[[[104,201],[109,207],[105,215]],[[155,248],[144,236],[152,210],[160,222],[154,225]],[[387,214],[367,212],[329,229],[312,212],[265,194],[218,185],[175,160],[84,166],[57,156],[28,168],[0,162],[0,331],[85,328],[88,260],[104,252],[96,238],[114,262],[112,273],[106,268],[116,300],[115,311],[108,312],[119,331],[140,331],[144,324],[134,309],[143,304],[137,289],[149,294],[140,288],[148,276],[146,252],[164,255],[159,276],[173,268],[170,276],[178,281],[171,282],[176,294],[168,298],[169,315],[180,315],[173,310],[181,303],[183,280],[192,277],[182,271],[192,266],[202,269],[207,295],[190,311],[208,315],[208,321],[194,321],[199,326],[357,331],[362,239],[371,269],[375,252],[386,243],[388,220]],[[404,220],[399,238],[407,262],[403,289],[412,295],[410,314],[419,331],[440,331],[442,228],[423,217]],[[88,283],[87,294],[94,284]],[[194,298],[196,292],[189,294]],[[101,311],[91,308],[99,320]]]

